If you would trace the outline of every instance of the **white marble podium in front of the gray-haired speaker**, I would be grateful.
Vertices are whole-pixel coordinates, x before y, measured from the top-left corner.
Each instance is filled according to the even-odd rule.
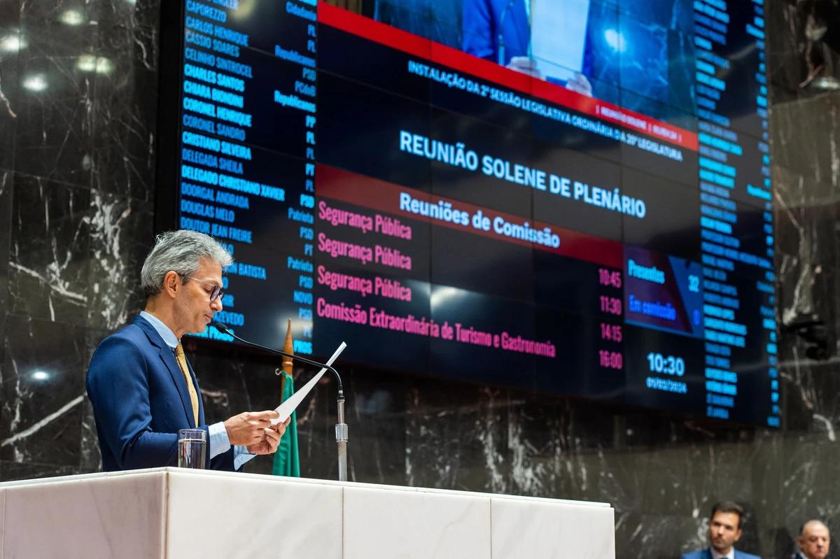
[[[608,504],[157,468],[0,483],[0,556],[614,559]]]

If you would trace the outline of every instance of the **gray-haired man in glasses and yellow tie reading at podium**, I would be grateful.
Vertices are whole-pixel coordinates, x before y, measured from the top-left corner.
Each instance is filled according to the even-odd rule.
[[[222,310],[222,269],[233,262],[199,232],[165,232],[140,272],[146,308],[102,340],[87,370],[87,394],[106,472],[175,466],[179,429],[207,432],[206,467],[238,470],[276,451],[285,423],[274,410],[207,425],[198,380],[181,336],[203,332]]]

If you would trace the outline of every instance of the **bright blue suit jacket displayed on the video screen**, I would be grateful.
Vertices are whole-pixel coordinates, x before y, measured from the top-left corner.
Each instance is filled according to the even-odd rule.
[[[465,52],[501,65],[508,65],[514,56],[528,56],[531,25],[523,0],[464,0],[463,16]],[[499,60],[500,36],[505,60]]]

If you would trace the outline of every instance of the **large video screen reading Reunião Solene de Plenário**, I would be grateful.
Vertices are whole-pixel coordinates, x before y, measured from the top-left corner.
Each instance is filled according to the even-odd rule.
[[[234,254],[218,319],[779,426],[763,4],[181,2],[166,203]]]

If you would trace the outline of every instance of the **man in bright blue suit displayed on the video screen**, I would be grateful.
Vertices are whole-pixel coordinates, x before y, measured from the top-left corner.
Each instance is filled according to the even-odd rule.
[[[464,0],[461,49],[511,70],[543,78],[528,56],[531,44],[531,0]],[[592,86],[583,74],[564,84],[591,97]]]

